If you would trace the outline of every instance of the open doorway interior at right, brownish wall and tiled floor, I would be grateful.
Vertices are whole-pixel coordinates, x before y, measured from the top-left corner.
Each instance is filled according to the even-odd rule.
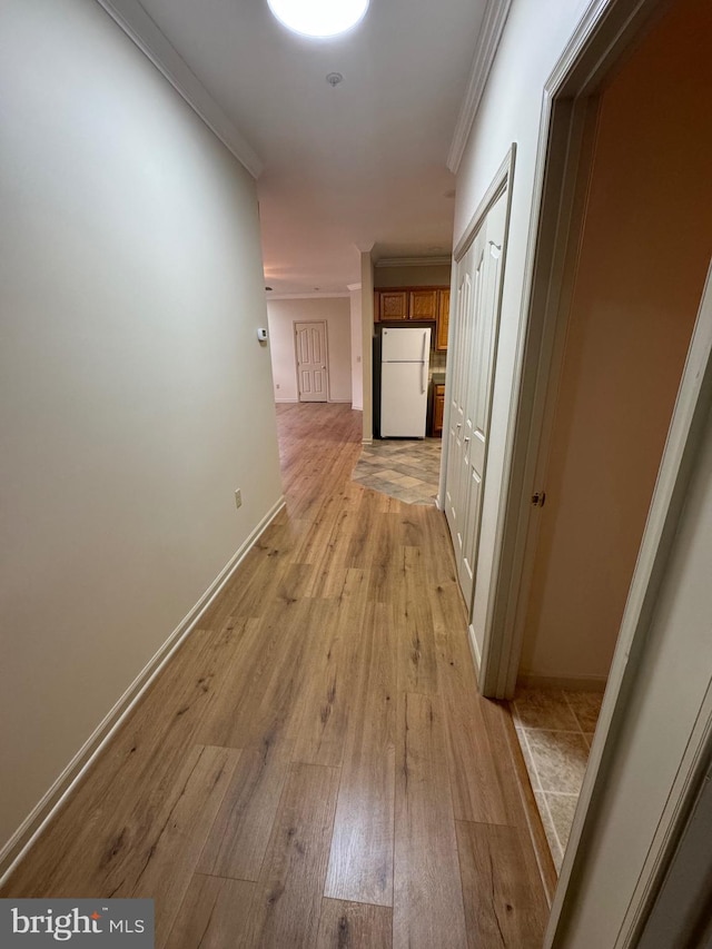
[[[675,4],[583,118],[590,158],[534,464],[531,494],[545,504],[528,520],[514,702],[558,866],[712,250],[704,6]]]

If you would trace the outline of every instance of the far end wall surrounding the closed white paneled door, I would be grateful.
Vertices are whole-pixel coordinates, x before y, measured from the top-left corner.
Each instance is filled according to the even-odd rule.
[[[294,324],[326,323],[329,402],[352,401],[352,330],[348,297],[314,297],[267,303],[276,402],[298,402]]]

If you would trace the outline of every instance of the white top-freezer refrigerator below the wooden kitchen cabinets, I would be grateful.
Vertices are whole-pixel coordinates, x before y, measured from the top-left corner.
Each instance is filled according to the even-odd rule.
[[[424,438],[431,362],[428,326],[380,332],[380,437]]]

